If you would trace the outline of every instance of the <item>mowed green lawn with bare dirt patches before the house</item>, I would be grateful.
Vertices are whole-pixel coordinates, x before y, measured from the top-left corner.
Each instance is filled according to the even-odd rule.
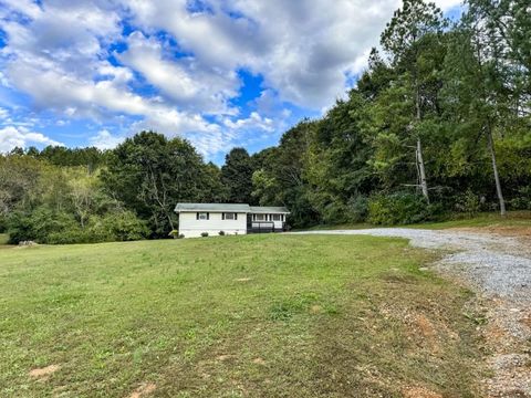
[[[324,235],[2,249],[0,396],[478,396],[471,295],[419,270],[433,255]]]

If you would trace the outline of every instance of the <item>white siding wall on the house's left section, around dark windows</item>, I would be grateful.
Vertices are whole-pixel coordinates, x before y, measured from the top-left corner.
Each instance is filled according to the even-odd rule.
[[[246,234],[247,214],[238,213],[238,220],[222,220],[221,212],[209,212],[208,220],[197,220],[196,212],[179,213],[179,234],[185,238],[197,238],[202,232],[208,232],[209,237],[217,237],[219,231],[226,234]]]

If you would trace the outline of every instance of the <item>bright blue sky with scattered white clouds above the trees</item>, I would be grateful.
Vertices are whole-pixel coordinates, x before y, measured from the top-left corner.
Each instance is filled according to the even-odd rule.
[[[447,14],[460,0],[436,0]],[[355,85],[400,0],[0,0],[0,153],[144,129],[221,164]]]

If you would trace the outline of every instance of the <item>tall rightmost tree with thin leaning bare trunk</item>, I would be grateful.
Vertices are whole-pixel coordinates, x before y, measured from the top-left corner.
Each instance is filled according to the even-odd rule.
[[[452,34],[446,61],[446,102],[456,123],[466,127],[464,137],[473,142],[485,138],[500,213],[506,216],[496,135],[506,135],[519,112],[512,108],[516,85],[511,82],[512,67],[504,60],[508,44],[492,28],[498,24],[490,20],[496,13],[486,12],[486,7],[482,1],[473,1]]]

